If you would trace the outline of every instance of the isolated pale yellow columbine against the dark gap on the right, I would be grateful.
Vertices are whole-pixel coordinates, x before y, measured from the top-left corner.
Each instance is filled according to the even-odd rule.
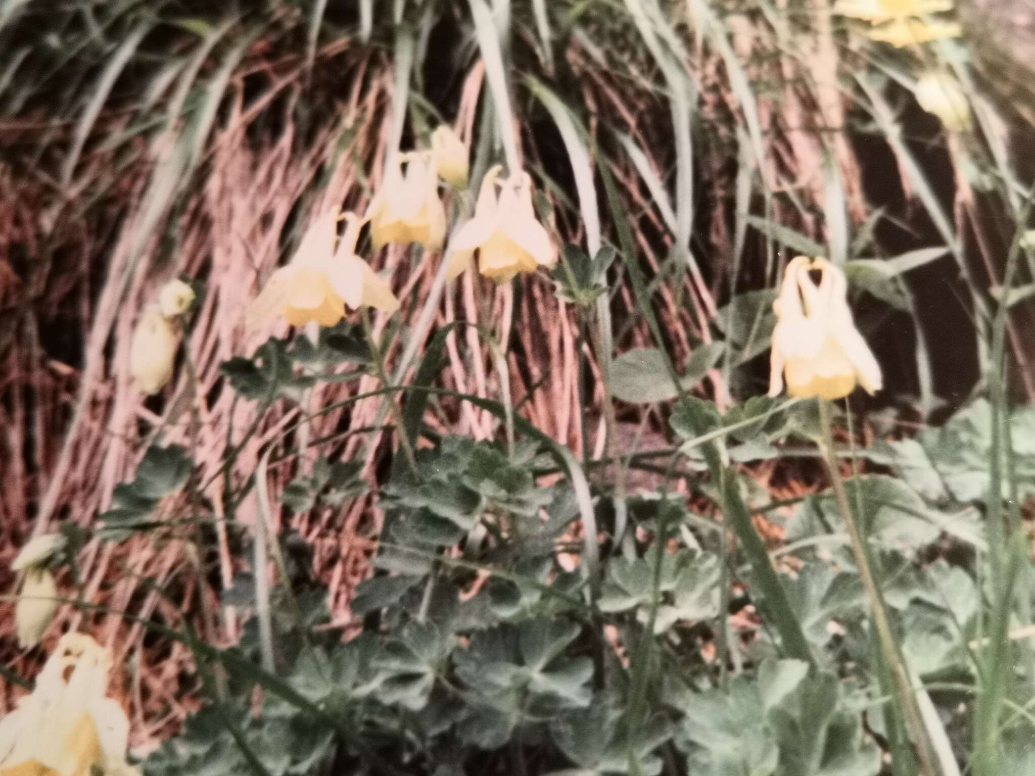
[[[818,272],[816,283],[810,273]],[[769,395],[841,398],[858,382],[881,388],[881,367],[855,328],[845,273],[826,259],[799,256],[787,266],[773,302],[776,328],[770,356]]]

